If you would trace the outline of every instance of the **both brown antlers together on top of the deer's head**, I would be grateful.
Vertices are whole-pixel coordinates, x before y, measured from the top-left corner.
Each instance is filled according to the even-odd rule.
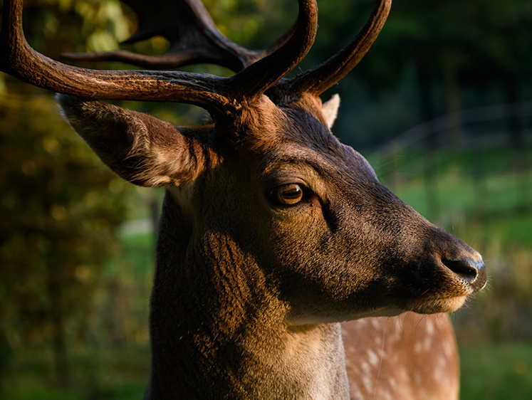
[[[298,0],[293,28],[265,51],[251,51],[229,41],[217,30],[197,0],[160,0],[167,14],[149,12],[143,0],[125,0],[139,14],[140,26],[127,42],[155,35],[169,38],[172,48],[160,57],[129,52],[68,54],[78,60],[120,60],[148,68],[176,68],[212,62],[239,71],[231,78],[177,71],[90,70],[51,60],[28,46],[21,23],[21,0],[4,1],[0,69],[28,83],[59,93],[111,100],[175,101],[207,110],[228,112],[231,105],[253,99],[276,85],[310,50],[317,27],[315,0]],[[380,33],[391,0],[380,0],[353,41],[313,70],[283,80],[270,90],[273,97],[319,95],[337,83],[365,56]],[[259,79],[257,79],[259,77]]]

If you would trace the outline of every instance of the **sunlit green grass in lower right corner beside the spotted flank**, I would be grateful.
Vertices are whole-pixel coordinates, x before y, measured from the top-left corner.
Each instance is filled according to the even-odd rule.
[[[461,400],[532,399],[532,343],[466,345]]]

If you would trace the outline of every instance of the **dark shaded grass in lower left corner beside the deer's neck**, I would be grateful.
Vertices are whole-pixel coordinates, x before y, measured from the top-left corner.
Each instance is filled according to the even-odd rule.
[[[79,347],[68,359],[68,377],[57,379],[46,349],[16,352],[1,374],[0,398],[13,400],[142,399],[148,381],[146,347]]]

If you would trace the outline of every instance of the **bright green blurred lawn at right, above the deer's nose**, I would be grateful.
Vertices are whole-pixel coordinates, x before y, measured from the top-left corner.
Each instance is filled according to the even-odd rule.
[[[392,154],[386,161],[370,156],[370,162],[388,186],[428,219],[439,219],[449,225],[457,211],[472,220],[489,223],[504,217],[507,222],[512,212],[532,209],[532,174],[526,167],[529,152],[532,147],[526,144],[521,149],[511,146],[452,149],[430,155],[423,149]],[[430,179],[434,181],[432,190],[436,203],[442,204],[441,209],[434,209],[427,196],[424,174],[427,167],[434,169]],[[493,221],[489,221],[490,216]],[[505,245],[530,243],[526,231],[513,232],[511,236],[503,231],[496,236]]]

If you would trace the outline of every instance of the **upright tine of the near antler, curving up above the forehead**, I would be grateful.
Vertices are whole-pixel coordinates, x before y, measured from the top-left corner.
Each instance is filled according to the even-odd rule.
[[[307,55],[318,29],[318,5],[315,0],[298,0],[298,3],[296,27],[288,41],[229,78],[234,98],[254,98],[261,95]]]

